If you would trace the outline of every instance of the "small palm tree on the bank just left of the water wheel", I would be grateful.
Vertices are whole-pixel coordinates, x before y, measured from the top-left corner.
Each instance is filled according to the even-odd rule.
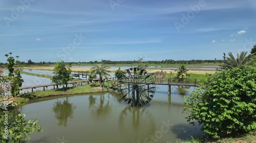
[[[110,71],[107,70],[108,68],[106,66],[103,66],[102,64],[97,64],[95,67],[91,68],[90,73],[91,75],[99,75],[99,86],[103,90],[102,82],[103,79],[102,77],[105,77],[108,80],[108,76],[110,76]]]

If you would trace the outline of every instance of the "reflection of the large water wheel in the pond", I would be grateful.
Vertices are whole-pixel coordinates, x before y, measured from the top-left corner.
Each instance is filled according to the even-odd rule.
[[[143,107],[127,106],[121,111],[118,123],[119,131],[127,142],[144,142],[148,136],[156,132],[153,116]]]

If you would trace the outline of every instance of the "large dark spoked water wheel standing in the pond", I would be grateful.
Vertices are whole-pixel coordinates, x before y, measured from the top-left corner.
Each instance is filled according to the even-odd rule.
[[[131,106],[144,106],[155,95],[156,85],[150,73],[141,68],[130,68],[118,80],[121,99]]]

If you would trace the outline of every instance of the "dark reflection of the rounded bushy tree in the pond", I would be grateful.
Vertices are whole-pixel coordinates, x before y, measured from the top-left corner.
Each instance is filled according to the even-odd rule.
[[[58,120],[58,126],[68,127],[69,121],[73,118],[74,109],[76,108],[73,103],[69,103],[69,98],[66,97],[66,100],[63,102],[58,101],[53,105],[53,111],[55,112],[55,118]]]

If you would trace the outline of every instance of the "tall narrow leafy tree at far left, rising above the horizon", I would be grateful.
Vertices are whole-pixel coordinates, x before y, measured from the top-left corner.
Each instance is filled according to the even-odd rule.
[[[24,80],[22,79],[22,75],[20,73],[22,69],[18,69],[20,62],[15,61],[11,54],[12,52],[10,52],[9,55],[5,54],[5,56],[8,58],[7,68],[9,70],[8,78],[11,84],[11,94],[12,96],[16,97],[19,94],[20,88],[22,87],[22,82],[24,82]],[[19,56],[16,56],[16,58],[18,59]]]

